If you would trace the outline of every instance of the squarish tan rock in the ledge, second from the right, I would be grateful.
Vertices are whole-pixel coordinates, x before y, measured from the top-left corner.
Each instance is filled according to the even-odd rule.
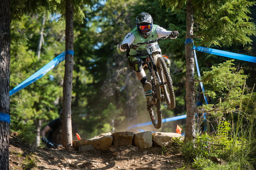
[[[138,146],[139,148],[152,147],[152,132],[145,131],[145,132],[134,134],[133,144],[135,146]]]

